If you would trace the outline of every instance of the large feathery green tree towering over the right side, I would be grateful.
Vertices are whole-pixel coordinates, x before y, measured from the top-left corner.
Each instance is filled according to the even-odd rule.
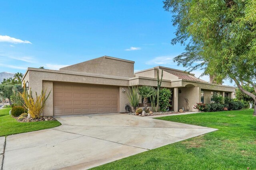
[[[201,68],[216,82],[234,81],[253,98],[256,95],[240,82],[248,82],[256,92],[256,1],[255,0],[165,0],[177,27],[172,44],[185,45],[174,58],[189,71]]]

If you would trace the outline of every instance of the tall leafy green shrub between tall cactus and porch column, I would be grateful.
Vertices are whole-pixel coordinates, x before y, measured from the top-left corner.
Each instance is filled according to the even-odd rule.
[[[160,111],[166,111],[166,108],[170,106],[170,98],[171,98],[172,92],[171,90],[167,88],[163,88],[159,92],[159,107]]]

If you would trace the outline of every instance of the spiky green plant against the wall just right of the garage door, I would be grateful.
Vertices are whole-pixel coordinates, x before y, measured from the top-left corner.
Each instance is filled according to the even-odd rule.
[[[132,85],[129,88],[129,92],[126,92],[128,100],[132,106],[133,111],[136,111],[138,104],[140,103],[140,94],[138,93],[138,85]]]

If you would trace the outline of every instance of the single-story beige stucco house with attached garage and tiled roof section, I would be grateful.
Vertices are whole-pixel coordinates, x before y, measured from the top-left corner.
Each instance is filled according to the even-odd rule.
[[[129,103],[125,92],[128,86],[157,86],[157,70],[159,75],[163,70],[162,87],[172,90],[174,111],[182,107],[195,111],[196,103],[211,102],[211,94],[231,97],[235,92],[234,87],[210,84],[194,74],[162,66],[134,74],[134,61],[108,56],[60,70],[28,68],[22,81],[28,82],[33,93],[52,90],[43,115],[117,113],[124,112]]]

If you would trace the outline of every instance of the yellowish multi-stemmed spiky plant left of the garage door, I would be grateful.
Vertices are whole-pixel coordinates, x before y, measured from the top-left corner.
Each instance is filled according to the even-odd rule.
[[[49,92],[47,96],[46,96],[46,91],[44,92],[42,90],[40,96],[38,96],[37,92],[35,92],[36,93],[35,99],[32,97],[31,89],[29,90],[29,92],[26,92],[26,90],[24,90],[22,93],[20,93],[20,95],[24,100],[24,107],[28,109],[28,113],[33,119],[39,118],[41,116],[45,106],[45,102],[48,99],[52,90]]]

